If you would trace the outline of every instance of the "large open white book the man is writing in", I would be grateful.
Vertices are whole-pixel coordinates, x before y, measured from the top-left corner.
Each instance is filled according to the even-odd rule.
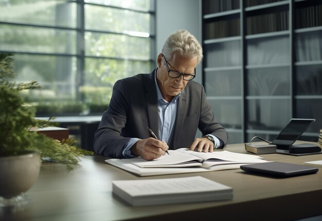
[[[257,155],[222,150],[204,153],[190,151],[187,148],[169,150],[169,155],[150,161],[141,157],[105,161],[139,176],[239,169],[242,164],[267,162]]]

